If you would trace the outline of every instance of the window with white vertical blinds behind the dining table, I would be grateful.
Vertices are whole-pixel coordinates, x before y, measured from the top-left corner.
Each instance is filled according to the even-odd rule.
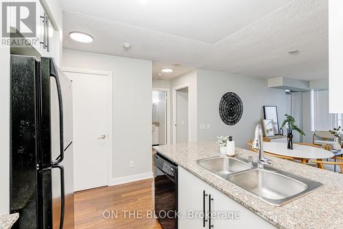
[[[311,91],[311,131],[342,126],[342,114],[329,113],[329,90]]]

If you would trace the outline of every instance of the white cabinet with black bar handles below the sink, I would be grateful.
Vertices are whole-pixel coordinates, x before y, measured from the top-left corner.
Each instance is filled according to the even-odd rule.
[[[204,196],[205,194],[205,196]],[[200,180],[189,171],[179,167],[178,170],[178,209],[180,229],[186,228],[210,228],[209,197],[211,195],[211,226],[214,229],[221,228],[275,228],[265,219],[252,213],[244,206],[224,195],[213,186]],[[249,195],[247,193],[247,195]],[[255,197],[252,197],[255,198]],[[215,217],[215,214],[221,215]],[[235,217],[233,217],[235,215]]]

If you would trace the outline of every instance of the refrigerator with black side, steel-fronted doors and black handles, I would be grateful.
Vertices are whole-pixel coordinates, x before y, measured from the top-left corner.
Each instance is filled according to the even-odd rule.
[[[14,228],[74,228],[71,80],[53,58],[11,56]]]

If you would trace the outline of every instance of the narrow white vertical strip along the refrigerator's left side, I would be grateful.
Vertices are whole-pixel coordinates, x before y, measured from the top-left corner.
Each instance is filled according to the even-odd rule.
[[[1,23],[1,19],[0,19]],[[0,47],[0,215],[10,210],[10,48]]]

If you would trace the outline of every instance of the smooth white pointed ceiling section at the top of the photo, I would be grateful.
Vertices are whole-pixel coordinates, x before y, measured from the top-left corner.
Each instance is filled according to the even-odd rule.
[[[289,1],[63,0],[62,4],[73,12],[214,44]]]

